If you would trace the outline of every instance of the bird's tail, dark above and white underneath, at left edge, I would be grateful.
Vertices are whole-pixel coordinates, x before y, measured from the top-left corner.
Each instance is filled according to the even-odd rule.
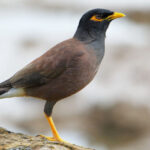
[[[10,81],[0,83],[0,99],[25,96],[23,88],[13,88]]]

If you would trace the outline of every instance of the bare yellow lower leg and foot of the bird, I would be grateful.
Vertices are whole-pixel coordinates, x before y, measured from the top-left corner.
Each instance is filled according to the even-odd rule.
[[[53,137],[47,137],[47,136],[43,136],[42,137],[45,137],[46,139],[50,140],[50,141],[59,141],[59,142],[65,142],[67,143],[66,141],[64,141],[58,134],[57,130],[56,130],[56,127],[55,127],[55,124],[53,122],[53,119],[52,117],[49,117],[45,114],[46,116],[46,119],[48,120],[48,123],[51,127],[51,131],[52,131],[52,134],[53,134]]]

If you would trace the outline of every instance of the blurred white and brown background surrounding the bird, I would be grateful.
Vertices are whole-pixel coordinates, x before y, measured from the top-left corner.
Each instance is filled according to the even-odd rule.
[[[53,117],[63,139],[97,150],[149,150],[150,1],[0,0],[0,82],[55,44],[73,36],[87,10],[126,14],[114,20],[96,78],[57,103]],[[50,135],[44,101],[0,100],[0,126]]]

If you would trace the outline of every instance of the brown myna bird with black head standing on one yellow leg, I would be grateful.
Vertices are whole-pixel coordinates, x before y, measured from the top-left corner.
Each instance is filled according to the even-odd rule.
[[[43,137],[49,141],[66,142],[53,122],[53,107],[93,80],[104,56],[106,30],[112,20],[124,16],[101,8],[87,11],[72,38],[52,47],[0,83],[0,99],[34,97],[45,100],[44,114],[53,137]]]

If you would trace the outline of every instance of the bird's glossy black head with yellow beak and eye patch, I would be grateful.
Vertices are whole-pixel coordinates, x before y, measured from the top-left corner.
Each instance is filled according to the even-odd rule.
[[[93,9],[86,12],[80,19],[79,26],[74,35],[81,41],[105,37],[109,23],[116,18],[125,16],[122,13],[106,9]]]

